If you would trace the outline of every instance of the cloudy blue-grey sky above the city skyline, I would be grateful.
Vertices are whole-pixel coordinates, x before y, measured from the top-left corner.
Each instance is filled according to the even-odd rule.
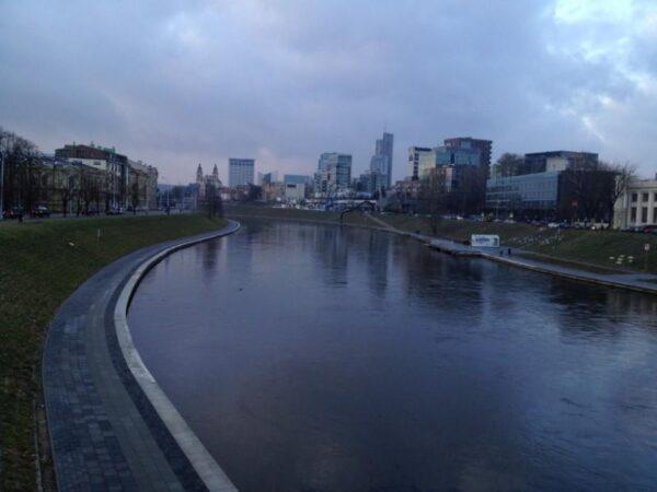
[[[657,173],[656,0],[0,0],[0,126],[188,183],[410,145],[586,150]]]

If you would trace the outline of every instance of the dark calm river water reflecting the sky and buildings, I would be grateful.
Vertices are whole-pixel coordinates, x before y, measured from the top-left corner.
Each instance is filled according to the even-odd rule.
[[[657,488],[656,297],[250,220],[129,324],[242,491]]]

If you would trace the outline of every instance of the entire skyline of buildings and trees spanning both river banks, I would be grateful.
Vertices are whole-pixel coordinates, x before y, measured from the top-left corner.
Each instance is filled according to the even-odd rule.
[[[383,132],[359,175],[350,153],[331,151],[319,155],[312,175],[281,177],[275,168],[256,173],[254,159],[231,157],[214,163],[207,175],[197,164],[188,185],[159,188],[154,166],[114,148],[72,143],[46,155],[5,133],[8,142],[25,149],[7,147],[4,210],[41,204],[67,213],[198,209],[215,199],[339,210],[369,201],[368,207],[402,213],[613,222],[637,229],[657,224],[657,177],[638,179],[627,166],[601,162],[591,152],[504,153],[494,163],[492,140],[451,137],[437,145],[410,147],[406,177],[393,183],[394,136]],[[227,184],[219,178],[221,166],[227,166]]]

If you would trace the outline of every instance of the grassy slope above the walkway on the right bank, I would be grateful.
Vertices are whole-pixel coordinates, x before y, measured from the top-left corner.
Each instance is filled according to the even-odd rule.
[[[264,207],[228,208],[228,213],[243,215],[261,215],[312,220],[336,223],[339,213],[316,212],[306,210],[272,209]],[[422,216],[387,214],[378,215],[390,225],[403,231],[419,231],[434,235],[429,220]],[[346,215],[346,222],[351,224],[376,225],[365,215],[353,212]],[[620,231],[575,231],[537,227],[529,224],[506,224],[499,222],[473,222],[441,220],[438,224],[438,237],[452,241],[466,241],[471,234],[497,234],[503,244],[522,248],[545,259],[566,261],[572,266],[581,263],[604,267],[608,269],[630,269],[643,271],[644,245],[650,244],[648,255],[648,271],[657,272],[657,236],[650,234],[624,233]],[[618,265],[619,256],[623,257]],[[613,257],[613,260],[610,259]],[[629,258],[633,257],[633,261]],[[537,257],[541,259],[541,257]]]

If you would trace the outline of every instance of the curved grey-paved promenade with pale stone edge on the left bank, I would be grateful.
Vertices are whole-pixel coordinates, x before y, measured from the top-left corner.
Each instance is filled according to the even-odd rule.
[[[131,253],[58,309],[43,385],[59,490],[237,490],[141,362],[126,316],[140,279],[158,261],[239,227],[229,221],[219,231]]]

